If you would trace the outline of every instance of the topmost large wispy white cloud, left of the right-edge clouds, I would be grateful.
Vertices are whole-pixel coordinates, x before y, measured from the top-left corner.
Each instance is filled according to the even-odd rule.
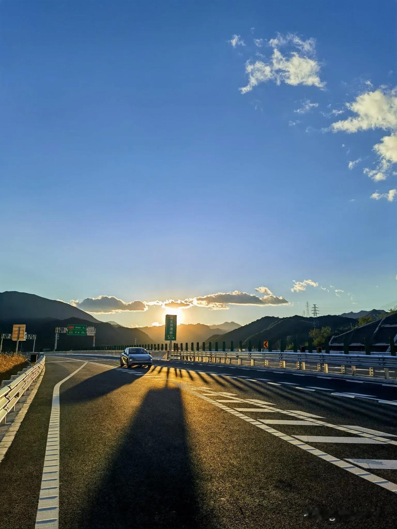
[[[248,74],[248,85],[240,88],[241,94],[250,92],[259,83],[266,83],[269,80],[277,85],[282,82],[287,85],[297,86],[317,86],[323,88],[325,83],[320,80],[320,64],[308,55],[314,53],[315,41],[309,39],[302,41],[296,35],[288,34],[286,37],[278,35],[276,39],[269,40],[273,47],[273,55],[268,62],[257,60],[254,63],[246,63],[246,73]],[[299,51],[291,51],[288,56],[283,56],[278,51],[278,47],[290,44]]]

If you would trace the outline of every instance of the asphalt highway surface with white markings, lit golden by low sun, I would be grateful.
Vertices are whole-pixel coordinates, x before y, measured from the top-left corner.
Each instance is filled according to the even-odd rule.
[[[0,527],[395,527],[396,412],[371,382],[48,355]]]

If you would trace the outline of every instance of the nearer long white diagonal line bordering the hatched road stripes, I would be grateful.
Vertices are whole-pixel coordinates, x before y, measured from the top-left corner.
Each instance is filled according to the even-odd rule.
[[[278,437],[278,439],[282,439],[283,441],[286,441],[290,444],[293,444],[300,448],[301,450],[305,450],[306,452],[309,452],[313,455],[317,455],[320,459],[323,461],[328,461],[329,463],[335,465],[336,467],[339,467],[343,470],[346,470],[347,472],[350,472],[354,474],[355,476],[358,476],[360,478],[365,479],[366,481],[369,481],[373,483],[374,485],[378,485],[384,489],[390,490],[391,492],[397,493],[397,484],[393,483],[392,481],[387,481],[386,479],[380,478],[379,476],[376,476],[375,474],[372,474],[371,472],[366,472],[363,469],[354,466],[353,464],[349,464],[344,460],[338,459],[333,457],[333,455],[327,454],[326,452],[323,452],[322,450],[318,450],[317,448],[313,448],[313,446],[310,446],[306,443],[301,443],[299,440],[295,439],[294,437],[291,437],[289,435],[286,435],[282,432],[279,432],[278,430],[275,430],[274,428],[270,426],[266,426],[266,424],[261,423],[260,421],[254,421],[254,419],[251,419],[250,417],[247,417],[246,415],[239,414],[238,412],[235,412],[234,409],[228,408],[227,406],[224,406],[223,404],[217,403],[215,400],[210,399],[209,397],[206,397],[204,395],[201,395],[198,393],[198,391],[195,391],[196,388],[194,387],[184,387],[184,385],[179,385],[176,382],[173,382],[173,384],[177,386],[181,386],[183,389],[186,389],[186,391],[189,391],[192,395],[195,395],[197,397],[200,397],[206,402],[209,402],[219,408],[221,408],[223,411],[228,412],[232,415],[236,415],[243,419],[244,421],[247,421],[261,430],[266,431],[267,433],[270,433],[272,435],[275,435]]]

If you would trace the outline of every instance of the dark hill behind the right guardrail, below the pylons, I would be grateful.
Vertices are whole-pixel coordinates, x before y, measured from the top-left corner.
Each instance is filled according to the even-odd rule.
[[[331,327],[331,334],[340,332],[341,328],[349,329],[351,325],[357,325],[354,318],[345,318],[342,316],[328,315],[317,318],[319,327]],[[309,331],[313,329],[313,318],[304,318],[302,316],[290,316],[287,318],[278,318],[276,316],[264,316],[255,322],[239,327],[223,335],[212,335],[211,342],[218,341],[219,347],[223,341],[227,347],[230,341],[233,341],[234,347],[238,346],[241,340],[244,346],[247,346],[248,340],[256,346],[258,340],[271,340],[273,348],[276,348],[279,340],[285,339],[287,343],[292,343],[296,337],[298,343],[304,343],[308,340]],[[209,340],[210,341],[210,340]]]

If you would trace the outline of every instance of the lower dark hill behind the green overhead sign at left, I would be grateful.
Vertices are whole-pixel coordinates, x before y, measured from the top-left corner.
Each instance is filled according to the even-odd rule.
[[[26,332],[29,334],[37,334],[35,350],[53,349],[55,341],[55,327],[67,327],[71,323],[78,325],[95,326],[96,338],[95,345],[133,345],[135,339],[138,344],[154,343],[145,332],[141,329],[130,329],[129,327],[122,327],[119,325],[115,327],[110,323],[91,322],[83,320],[82,318],[68,318],[67,320],[53,320],[52,318],[42,318],[35,320],[28,320],[18,318],[16,323],[25,323]],[[12,322],[5,322],[0,320],[0,333],[10,333],[12,331]],[[70,349],[91,347],[93,343],[92,336],[68,336],[67,334],[59,334],[58,351],[67,351]],[[24,351],[31,351],[33,342],[26,341],[22,344]],[[11,340],[3,341],[4,351],[14,351],[15,342]]]

